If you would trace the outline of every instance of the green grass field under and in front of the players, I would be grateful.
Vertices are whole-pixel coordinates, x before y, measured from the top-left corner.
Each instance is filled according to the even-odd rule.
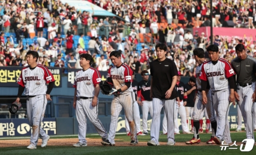
[[[256,133],[255,133],[256,134]],[[211,134],[200,134],[201,144],[205,143]],[[176,142],[185,143],[192,138],[192,134],[176,134]],[[72,137],[53,137],[55,138],[77,138]],[[87,135],[89,139],[100,139],[99,135]],[[241,142],[245,139],[245,132],[231,132],[231,138]],[[50,139],[50,140],[51,140]],[[66,139],[67,140],[67,139]],[[150,136],[138,136],[139,142],[147,142],[150,140]],[[1,145],[0,140],[0,145]],[[19,143],[19,140],[16,140]],[[116,142],[129,142],[130,137],[124,134],[116,135]],[[160,135],[160,142],[167,142],[166,135]],[[3,141],[2,141],[3,142]],[[37,150],[27,150],[26,147],[0,147],[0,155],[256,155],[256,147],[250,152],[241,152],[240,145],[237,146],[237,150],[221,151],[220,145],[160,145],[160,146],[86,146],[80,148],[74,148],[70,146],[51,146],[46,148],[37,146]],[[29,144],[27,144],[29,145]]]

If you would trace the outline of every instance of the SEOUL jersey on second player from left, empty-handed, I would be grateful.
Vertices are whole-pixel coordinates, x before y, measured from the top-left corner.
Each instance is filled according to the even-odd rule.
[[[101,82],[101,75],[95,68],[82,69],[75,74],[73,87],[77,89],[77,97],[94,97],[95,86]]]

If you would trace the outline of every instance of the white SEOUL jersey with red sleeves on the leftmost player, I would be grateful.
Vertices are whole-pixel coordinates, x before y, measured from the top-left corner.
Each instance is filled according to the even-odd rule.
[[[48,68],[37,64],[35,68],[29,66],[21,69],[17,83],[26,88],[25,95],[45,95],[47,91],[46,83],[55,81]]]

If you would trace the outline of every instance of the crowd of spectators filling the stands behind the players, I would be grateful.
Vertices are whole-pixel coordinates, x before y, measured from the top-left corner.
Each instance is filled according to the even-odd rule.
[[[150,71],[150,63],[157,58],[154,45],[164,42],[168,45],[166,57],[181,74],[195,76],[192,51],[197,47],[206,51],[210,41],[204,32],[193,33],[191,28],[209,19],[209,0],[91,2],[125,21],[95,17],[94,11],[76,10],[61,0],[1,0],[0,66],[26,66],[26,53],[33,50],[39,53],[38,63],[46,67],[80,68],[79,55],[89,53],[93,67],[107,71],[112,66],[110,52],[120,50],[123,63],[140,73]],[[235,27],[254,28],[255,15],[253,0],[213,0],[214,26],[230,20]],[[145,44],[144,34],[155,39],[149,38],[151,43]],[[213,43],[219,46],[220,57],[228,61],[236,57],[238,43],[256,57],[256,41],[216,35]]]

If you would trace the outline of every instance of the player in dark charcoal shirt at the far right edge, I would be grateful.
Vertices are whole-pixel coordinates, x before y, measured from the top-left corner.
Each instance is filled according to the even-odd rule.
[[[245,122],[246,137],[254,139],[253,106],[256,101],[256,59],[246,54],[243,44],[238,44],[235,52],[237,57],[231,62],[236,73],[235,99]]]

